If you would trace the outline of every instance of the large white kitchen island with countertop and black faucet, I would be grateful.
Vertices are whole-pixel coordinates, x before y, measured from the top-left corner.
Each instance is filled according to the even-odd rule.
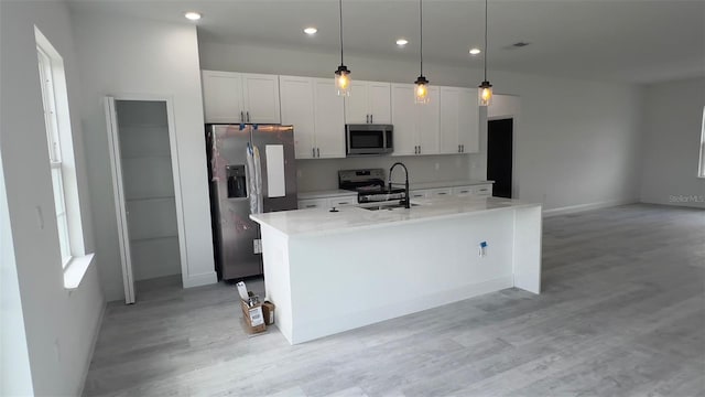
[[[541,205],[412,203],[250,215],[261,225],[267,297],[291,344],[505,288],[540,293]]]

